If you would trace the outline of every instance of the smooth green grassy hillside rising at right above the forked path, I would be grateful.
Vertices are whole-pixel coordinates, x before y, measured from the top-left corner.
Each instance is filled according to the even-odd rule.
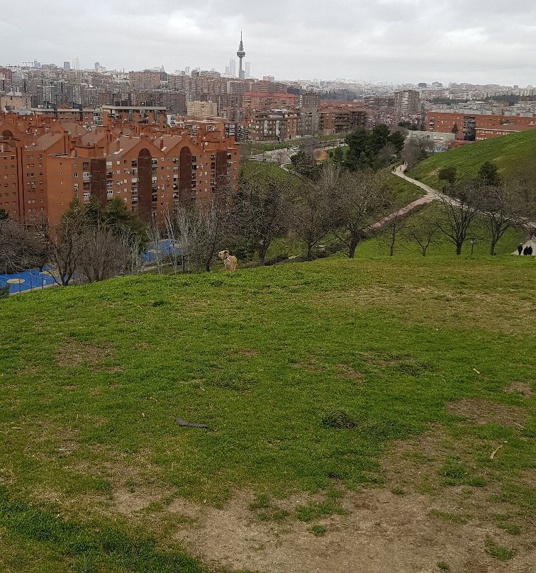
[[[476,141],[462,148],[437,153],[420,162],[411,171],[410,177],[419,179],[431,187],[440,189],[442,182],[437,173],[443,167],[455,165],[460,179],[474,177],[485,161],[493,161],[501,173],[508,176],[520,165],[534,165],[536,161],[536,130],[504,135],[484,141]]]

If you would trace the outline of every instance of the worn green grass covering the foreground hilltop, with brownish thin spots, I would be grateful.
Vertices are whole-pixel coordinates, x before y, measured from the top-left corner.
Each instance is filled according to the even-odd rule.
[[[535,261],[363,255],[0,301],[0,569],[198,573],[177,543],[201,525],[173,508],[218,523],[240,496],[248,527],[313,555],[348,500],[384,496],[381,519],[428,499],[426,528],[528,571]],[[421,568],[463,571],[464,543]],[[226,567],[270,571],[261,545]]]

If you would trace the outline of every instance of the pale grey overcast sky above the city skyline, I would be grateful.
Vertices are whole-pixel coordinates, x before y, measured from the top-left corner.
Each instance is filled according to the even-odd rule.
[[[536,0],[1,1],[0,63],[536,84]]]

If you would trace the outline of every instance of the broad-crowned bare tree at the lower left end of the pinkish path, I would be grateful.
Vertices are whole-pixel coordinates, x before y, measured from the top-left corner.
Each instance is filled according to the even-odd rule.
[[[348,257],[354,258],[360,240],[367,236],[374,218],[385,213],[393,203],[389,175],[364,170],[345,172],[338,179],[333,194],[333,216],[337,238],[347,245]]]

